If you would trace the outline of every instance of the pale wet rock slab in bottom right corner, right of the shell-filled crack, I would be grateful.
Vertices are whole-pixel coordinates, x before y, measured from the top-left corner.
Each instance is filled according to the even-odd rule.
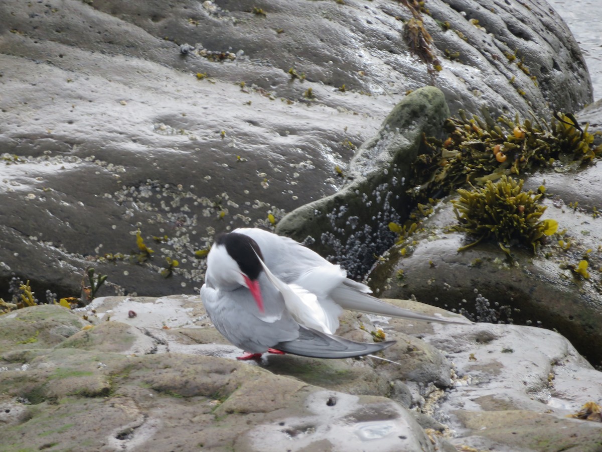
[[[600,399],[601,387],[592,378],[602,374],[560,334],[491,324],[475,324],[471,331],[451,325],[436,330],[424,339],[453,356],[462,376],[435,410],[435,419],[459,434],[450,439],[456,447],[516,451],[552,451],[569,444],[576,450],[599,447],[602,424],[566,416],[586,401]]]

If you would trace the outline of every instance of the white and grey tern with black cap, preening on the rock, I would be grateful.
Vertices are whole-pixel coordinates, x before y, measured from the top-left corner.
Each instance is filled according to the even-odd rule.
[[[423,321],[453,322],[402,309],[370,295],[293,239],[260,228],[238,228],[216,236],[200,289],[214,326],[255,359],[265,352],[317,358],[363,356],[396,341],[355,342],[336,336],[343,309]]]

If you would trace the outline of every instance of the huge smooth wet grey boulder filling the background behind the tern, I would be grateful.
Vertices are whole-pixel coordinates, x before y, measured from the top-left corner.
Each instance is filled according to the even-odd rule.
[[[591,101],[544,2],[427,7],[2,2],[0,283],[76,296],[92,265],[105,294],[193,292],[214,231],[270,228],[337,192],[409,90],[439,87],[452,113]],[[412,54],[413,17],[433,40]]]

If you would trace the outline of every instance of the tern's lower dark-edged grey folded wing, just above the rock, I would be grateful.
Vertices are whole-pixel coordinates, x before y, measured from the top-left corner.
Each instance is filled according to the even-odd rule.
[[[344,337],[326,334],[312,328],[299,327],[299,337],[293,341],[281,342],[273,348],[300,356],[314,358],[350,358],[364,356],[383,350],[396,341],[369,344],[368,342],[354,342]]]

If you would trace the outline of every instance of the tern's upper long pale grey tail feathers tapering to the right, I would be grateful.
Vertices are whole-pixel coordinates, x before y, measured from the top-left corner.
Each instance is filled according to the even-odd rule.
[[[330,292],[330,297],[343,309],[349,309],[352,311],[365,312],[368,314],[385,315],[389,317],[401,317],[404,319],[415,319],[426,322],[440,322],[440,323],[456,323],[466,324],[467,320],[463,317],[458,318],[449,317],[435,317],[432,315],[422,314],[420,312],[414,312],[409,309],[403,309],[401,307],[393,306],[393,304],[386,303],[385,301],[379,300],[378,298],[372,297],[369,293],[358,292],[356,287],[352,284],[355,281],[349,281],[347,284],[345,281],[341,286]],[[363,285],[363,284],[362,284]]]

